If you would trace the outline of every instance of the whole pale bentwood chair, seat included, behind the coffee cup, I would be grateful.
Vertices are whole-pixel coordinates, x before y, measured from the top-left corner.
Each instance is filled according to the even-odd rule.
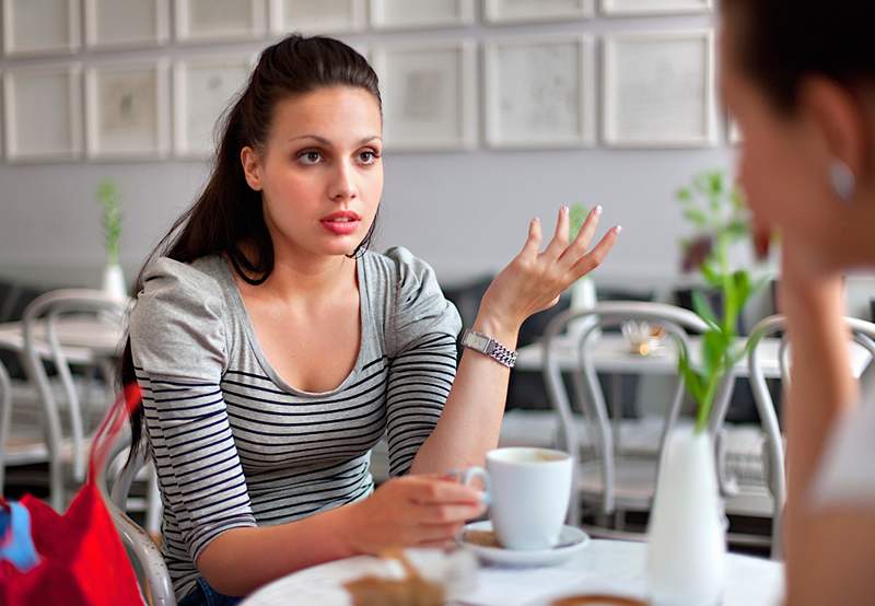
[[[573,338],[560,336],[574,321],[593,317]],[[608,417],[605,396],[593,362],[593,346],[599,328],[617,327],[626,321],[660,325],[674,343],[674,359],[680,348],[689,349],[690,333],[702,333],[708,326],[695,313],[664,303],[608,301],[586,311],[568,311],[553,318],[542,339],[542,373],[549,399],[559,416],[560,439],[574,458],[574,483],[569,523],[580,524],[583,509],[594,513],[596,525],[587,526],[592,534],[642,538],[609,523],[609,515],[625,512],[648,512],[653,501],[660,456],[668,431],[678,423],[685,388],[682,376],[674,370],[674,388],[664,407],[657,444],[654,452],[623,452]],[[578,324],[580,326],[580,324]],[[572,331],[573,334],[573,331]],[[571,340],[572,342],[569,342]],[[571,372],[572,389],[565,387],[558,363],[561,348],[573,348],[576,364]],[[666,356],[669,348],[666,348]],[[632,354],[630,353],[630,357]],[[674,366],[676,369],[676,364]],[[575,419],[583,412],[588,440],[579,434],[581,423]],[[620,516],[621,518],[621,516]]]

